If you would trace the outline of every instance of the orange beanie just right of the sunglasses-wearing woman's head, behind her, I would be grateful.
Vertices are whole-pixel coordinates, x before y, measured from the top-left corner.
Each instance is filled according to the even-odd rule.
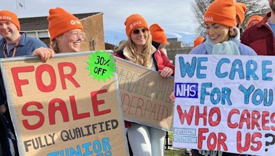
[[[152,40],[158,42],[160,44],[167,43],[167,37],[165,35],[164,29],[157,24],[153,24],[150,26],[150,32],[152,36]]]

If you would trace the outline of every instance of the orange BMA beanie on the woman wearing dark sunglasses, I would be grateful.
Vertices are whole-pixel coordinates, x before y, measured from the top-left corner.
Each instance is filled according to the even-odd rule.
[[[131,14],[128,16],[124,22],[124,25],[126,26],[126,34],[128,37],[130,36],[131,31],[137,27],[145,27],[148,29],[145,19],[140,14]]]

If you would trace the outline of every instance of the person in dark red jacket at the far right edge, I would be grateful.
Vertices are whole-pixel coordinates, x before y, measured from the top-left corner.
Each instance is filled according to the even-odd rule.
[[[243,32],[241,42],[258,55],[275,55],[275,1],[269,0],[271,11],[263,20]]]

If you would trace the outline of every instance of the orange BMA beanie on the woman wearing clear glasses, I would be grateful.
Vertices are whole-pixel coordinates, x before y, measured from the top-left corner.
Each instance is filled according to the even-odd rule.
[[[79,19],[62,8],[50,9],[49,14],[47,21],[49,21],[51,40],[72,29],[83,30]]]

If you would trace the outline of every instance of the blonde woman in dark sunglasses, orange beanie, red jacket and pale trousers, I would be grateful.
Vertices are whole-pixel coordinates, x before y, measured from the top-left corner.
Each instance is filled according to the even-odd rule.
[[[115,56],[152,70],[158,70],[162,77],[173,75],[174,66],[170,64],[162,51],[158,51],[151,44],[151,34],[144,18],[140,14],[132,14],[126,18],[124,25],[128,40],[126,44],[120,45]],[[133,155],[164,155],[165,131],[131,122],[127,133]]]

